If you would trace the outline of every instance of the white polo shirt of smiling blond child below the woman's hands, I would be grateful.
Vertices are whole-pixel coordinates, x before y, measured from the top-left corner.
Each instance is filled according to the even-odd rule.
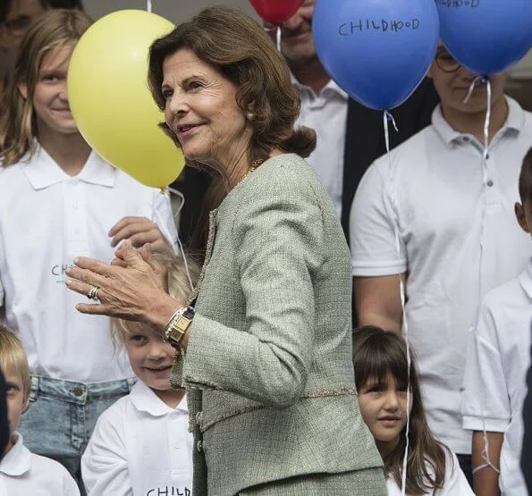
[[[173,409],[139,381],[98,418],[83,483],[89,496],[190,496],[193,445],[186,396]]]

